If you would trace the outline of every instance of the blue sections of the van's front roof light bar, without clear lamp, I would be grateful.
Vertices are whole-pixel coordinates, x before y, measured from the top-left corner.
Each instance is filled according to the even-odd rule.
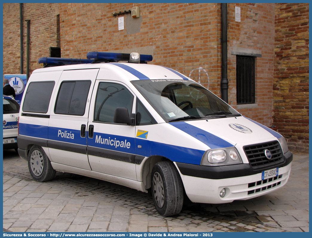
[[[111,52],[88,52],[87,59],[94,59],[104,62],[118,62],[118,61],[128,61],[130,60],[130,54],[124,53],[111,53]],[[140,63],[147,63],[153,60],[152,55],[140,55]]]

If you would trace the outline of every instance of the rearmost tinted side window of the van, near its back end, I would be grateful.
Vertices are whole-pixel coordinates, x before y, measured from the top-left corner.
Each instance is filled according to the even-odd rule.
[[[30,83],[25,95],[23,111],[47,113],[54,84],[54,81]]]

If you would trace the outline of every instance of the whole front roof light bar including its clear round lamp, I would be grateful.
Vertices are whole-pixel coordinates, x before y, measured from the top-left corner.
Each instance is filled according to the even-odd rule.
[[[134,54],[136,56],[130,56],[131,54]],[[147,64],[147,62],[153,60],[152,55],[140,55],[139,53],[136,52],[133,52],[131,54],[95,51],[88,52],[87,59],[93,59],[94,60],[93,63],[128,61],[129,63],[141,63],[141,64]]]

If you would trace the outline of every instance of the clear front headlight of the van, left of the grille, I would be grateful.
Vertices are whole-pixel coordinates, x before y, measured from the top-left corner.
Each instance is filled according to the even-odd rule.
[[[207,150],[202,156],[200,165],[220,166],[242,164],[241,157],[235,147]]]

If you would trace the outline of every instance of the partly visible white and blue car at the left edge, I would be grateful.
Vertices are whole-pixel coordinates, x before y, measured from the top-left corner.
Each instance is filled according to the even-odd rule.
[[[19,110],[20,105],[12,97],[3,95],[3,150],[17,151]]]

